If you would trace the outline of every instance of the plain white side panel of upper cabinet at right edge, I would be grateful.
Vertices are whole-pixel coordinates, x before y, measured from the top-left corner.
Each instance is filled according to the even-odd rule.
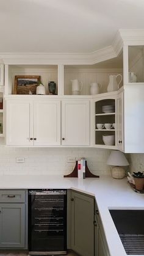
[[[124,152],[144,153],[144,85],[124,87]]]

